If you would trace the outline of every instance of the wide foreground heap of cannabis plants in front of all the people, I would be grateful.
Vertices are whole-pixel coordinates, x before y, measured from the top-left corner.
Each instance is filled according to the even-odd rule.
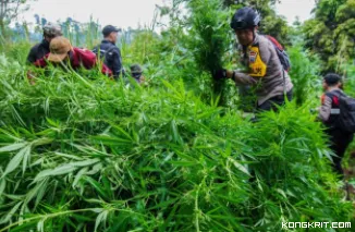
[[[252,124],[221,117],[179,80],[131,88],[52,70],[32,86],[3,73],[0,231],[278,231],[283,221],[351,220],[305,107]]]

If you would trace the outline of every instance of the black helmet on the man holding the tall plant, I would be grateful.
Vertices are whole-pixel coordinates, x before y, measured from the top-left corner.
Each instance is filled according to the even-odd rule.
[[[231,21],[232,29],[247,29],[258,26],[260,14],[252,8],[242,8],[237,10]]]

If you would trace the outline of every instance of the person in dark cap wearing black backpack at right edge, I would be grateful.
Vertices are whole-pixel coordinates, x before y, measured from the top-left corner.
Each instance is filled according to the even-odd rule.
[[[347,146],[354,138],[353,133],[347,133],[336,126],[336,120],[340,115],[340,96],[344,96],[341,89],[341,76],[338,74],[327,74],[323,77],[325,94],[321,97],[321,107],[319,108],[318,119],[326,125],[326,133],[330,137],[330,149],[336,155],[333,157],[333,170],[343,176],[342,158]]]

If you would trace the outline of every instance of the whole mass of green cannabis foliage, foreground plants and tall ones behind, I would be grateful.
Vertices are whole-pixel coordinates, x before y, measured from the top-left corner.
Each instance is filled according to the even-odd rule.
[[[295,101],[257,123],[241,113],[231,82],[213,88],[211,72],[237,60],[225,5],[189,1],[184,17],[168,11],[160,36],[143,30],[123,42],[124,65],[142,63],[145,86],[96,69],[27,68],[27,42],[2,47],[0,232],[274,232],[289,221],[355,222],[309,113],[319,103],[315,56],[289,49]],[[342,66],[354,77],[352,63]],[[354,86],[348,77],[346,91]]]

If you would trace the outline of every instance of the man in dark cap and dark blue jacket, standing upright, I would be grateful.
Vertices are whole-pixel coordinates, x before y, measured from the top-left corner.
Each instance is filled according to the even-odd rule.
[[[107,25],[102,29],[103,40],[93,49],[93,52],[103,60],[103,63],[112,71],[113,77],[119,78],[124,74],[122,66],[121,51],[115,46],[121,29]]]

